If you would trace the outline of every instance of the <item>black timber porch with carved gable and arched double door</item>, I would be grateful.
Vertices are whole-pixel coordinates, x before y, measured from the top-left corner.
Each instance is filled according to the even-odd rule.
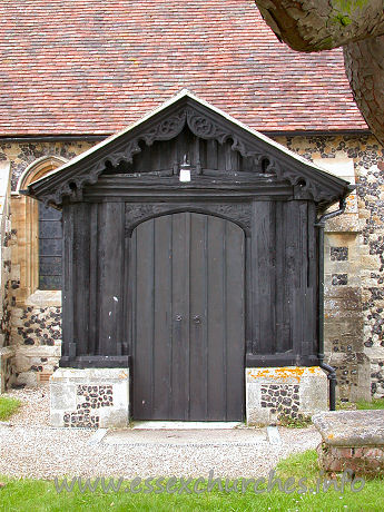
[[[246,366],[318,364],[316,216],[348,191],[183,92],[28,188],[62,208],[60,365],[130,366],[134,417],[240,420]]]

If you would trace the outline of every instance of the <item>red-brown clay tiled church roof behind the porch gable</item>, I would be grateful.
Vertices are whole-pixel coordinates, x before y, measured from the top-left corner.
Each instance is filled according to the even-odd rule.
[[[366,125],[343,55],[297,53],[253,0],[2,0],[0,135],[110,134],[188,88],[262,131]]]

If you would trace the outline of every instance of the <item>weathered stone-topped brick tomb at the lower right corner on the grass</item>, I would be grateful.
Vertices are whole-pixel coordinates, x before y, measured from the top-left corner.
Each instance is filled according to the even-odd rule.
[[[327,473],[384,474],[384,411],[335,411],[313,417],[323,437],[317,447]]]

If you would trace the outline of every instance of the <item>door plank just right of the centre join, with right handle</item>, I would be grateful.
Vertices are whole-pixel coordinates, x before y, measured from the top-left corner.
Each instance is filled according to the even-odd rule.
[[[190,220],[190,403],[189,416],[207,416],[207,221],[193,214]]]

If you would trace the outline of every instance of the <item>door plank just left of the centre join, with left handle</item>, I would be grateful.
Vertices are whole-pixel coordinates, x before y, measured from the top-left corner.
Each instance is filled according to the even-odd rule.
[[[190,214],[173,221],[173,358],[170,419],[189,414],[189,236]]]

